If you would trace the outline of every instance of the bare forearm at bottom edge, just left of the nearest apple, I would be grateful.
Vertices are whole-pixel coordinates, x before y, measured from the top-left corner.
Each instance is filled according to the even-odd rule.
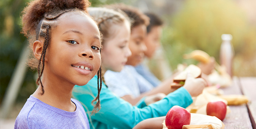
[[[163,120],[165,120],[165,116],[145,119],[132,129],[162,129]]]

